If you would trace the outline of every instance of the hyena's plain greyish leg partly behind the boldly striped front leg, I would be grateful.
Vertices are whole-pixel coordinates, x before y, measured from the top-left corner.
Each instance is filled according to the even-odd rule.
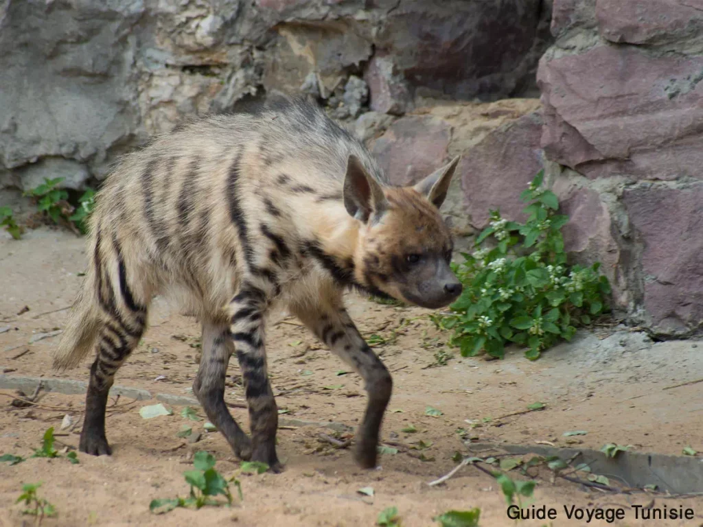
[[[207,418],[225,436],[235,455],[241,460],[249,460],[252,457],[252,442],[224,402],[227,365],[233,351],[227,323],[206,321],[202,324],[202,356],[198,375],[193,382],[193,393]]]

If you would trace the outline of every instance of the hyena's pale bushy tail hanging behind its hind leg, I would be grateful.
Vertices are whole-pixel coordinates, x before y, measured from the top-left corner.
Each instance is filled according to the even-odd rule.
[[[79,365],[91,352],[98,338],[101,310],[93,277],[91,269],[73,305],[58,349],[53,354],[53,367],[57,370]]]

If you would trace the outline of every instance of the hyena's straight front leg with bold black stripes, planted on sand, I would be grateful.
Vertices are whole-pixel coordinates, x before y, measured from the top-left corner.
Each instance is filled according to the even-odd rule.
[[[249,407],[252,460],[264,462],[271,471],[280,472],[283,465],[276,455],[278,408],[266,372],[264,315],[267,304],[259,289],[245,286],[232,299],[230,307],[233,313],[230,331]]]

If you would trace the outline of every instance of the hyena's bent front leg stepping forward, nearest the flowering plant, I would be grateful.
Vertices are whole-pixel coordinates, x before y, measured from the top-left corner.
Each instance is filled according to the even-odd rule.
[[[295,308],[302,322],[335,355],[361,375],[368,392],[363,421],[356,433],[356,462],[363,468],[376,466],[381,422],[393,390],[393,380],[380,358],[361,337],[343,307]]]

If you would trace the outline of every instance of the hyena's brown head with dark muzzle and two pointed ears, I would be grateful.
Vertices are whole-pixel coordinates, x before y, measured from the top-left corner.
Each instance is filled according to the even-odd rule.
[[[451,271],[451,233],[439,214],[459,157],[409,187],[382,187],[354,156],[344,206],[361,222],[356,282],[370,292],[425,308],[451,304],[462,290]]]

